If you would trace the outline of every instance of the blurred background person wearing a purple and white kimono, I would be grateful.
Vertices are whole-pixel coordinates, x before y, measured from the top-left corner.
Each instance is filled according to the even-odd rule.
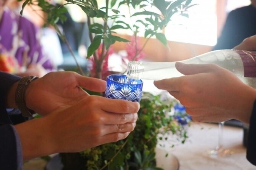
[[[56,67],[42,49],[39,28],[15,13],[15,3],[13,0],[0,3],[0,70],[42,77]]]

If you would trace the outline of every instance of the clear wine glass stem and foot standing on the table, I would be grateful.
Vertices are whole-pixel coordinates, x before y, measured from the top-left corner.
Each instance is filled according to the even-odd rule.
[[[209,151],[210,157],[227,157],[232,154],[232,151],[223,148],[223,126],[224,122],[218,123],[218,145]]]

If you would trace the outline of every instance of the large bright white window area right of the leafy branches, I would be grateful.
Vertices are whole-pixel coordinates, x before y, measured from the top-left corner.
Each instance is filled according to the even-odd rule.
[[[166,38],[172,41],[215,45],[217,42],[216,0],[192,0],[189,18],[176,16],[166,27]]]

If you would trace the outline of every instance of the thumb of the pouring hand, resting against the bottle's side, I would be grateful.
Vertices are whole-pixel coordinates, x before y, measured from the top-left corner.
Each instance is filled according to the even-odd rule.
[[[216,64],[184,64],[176,62],[176,69],[184,75],[199,74],[203,72],[212,71],[212,67],[216,67]]]

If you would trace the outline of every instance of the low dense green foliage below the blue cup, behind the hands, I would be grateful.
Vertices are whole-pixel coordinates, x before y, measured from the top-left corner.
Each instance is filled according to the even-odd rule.
[[[162,101],[160,95],[144,93],[135,130],[124,140],[80,152],[86,164],[79,169],[161,170],[156,167],[155,148],[158,140],[168,140],[168,137],[159,135],[171,132],[182,141],[188,138],[183,126],[167,114],[174,102]]]

